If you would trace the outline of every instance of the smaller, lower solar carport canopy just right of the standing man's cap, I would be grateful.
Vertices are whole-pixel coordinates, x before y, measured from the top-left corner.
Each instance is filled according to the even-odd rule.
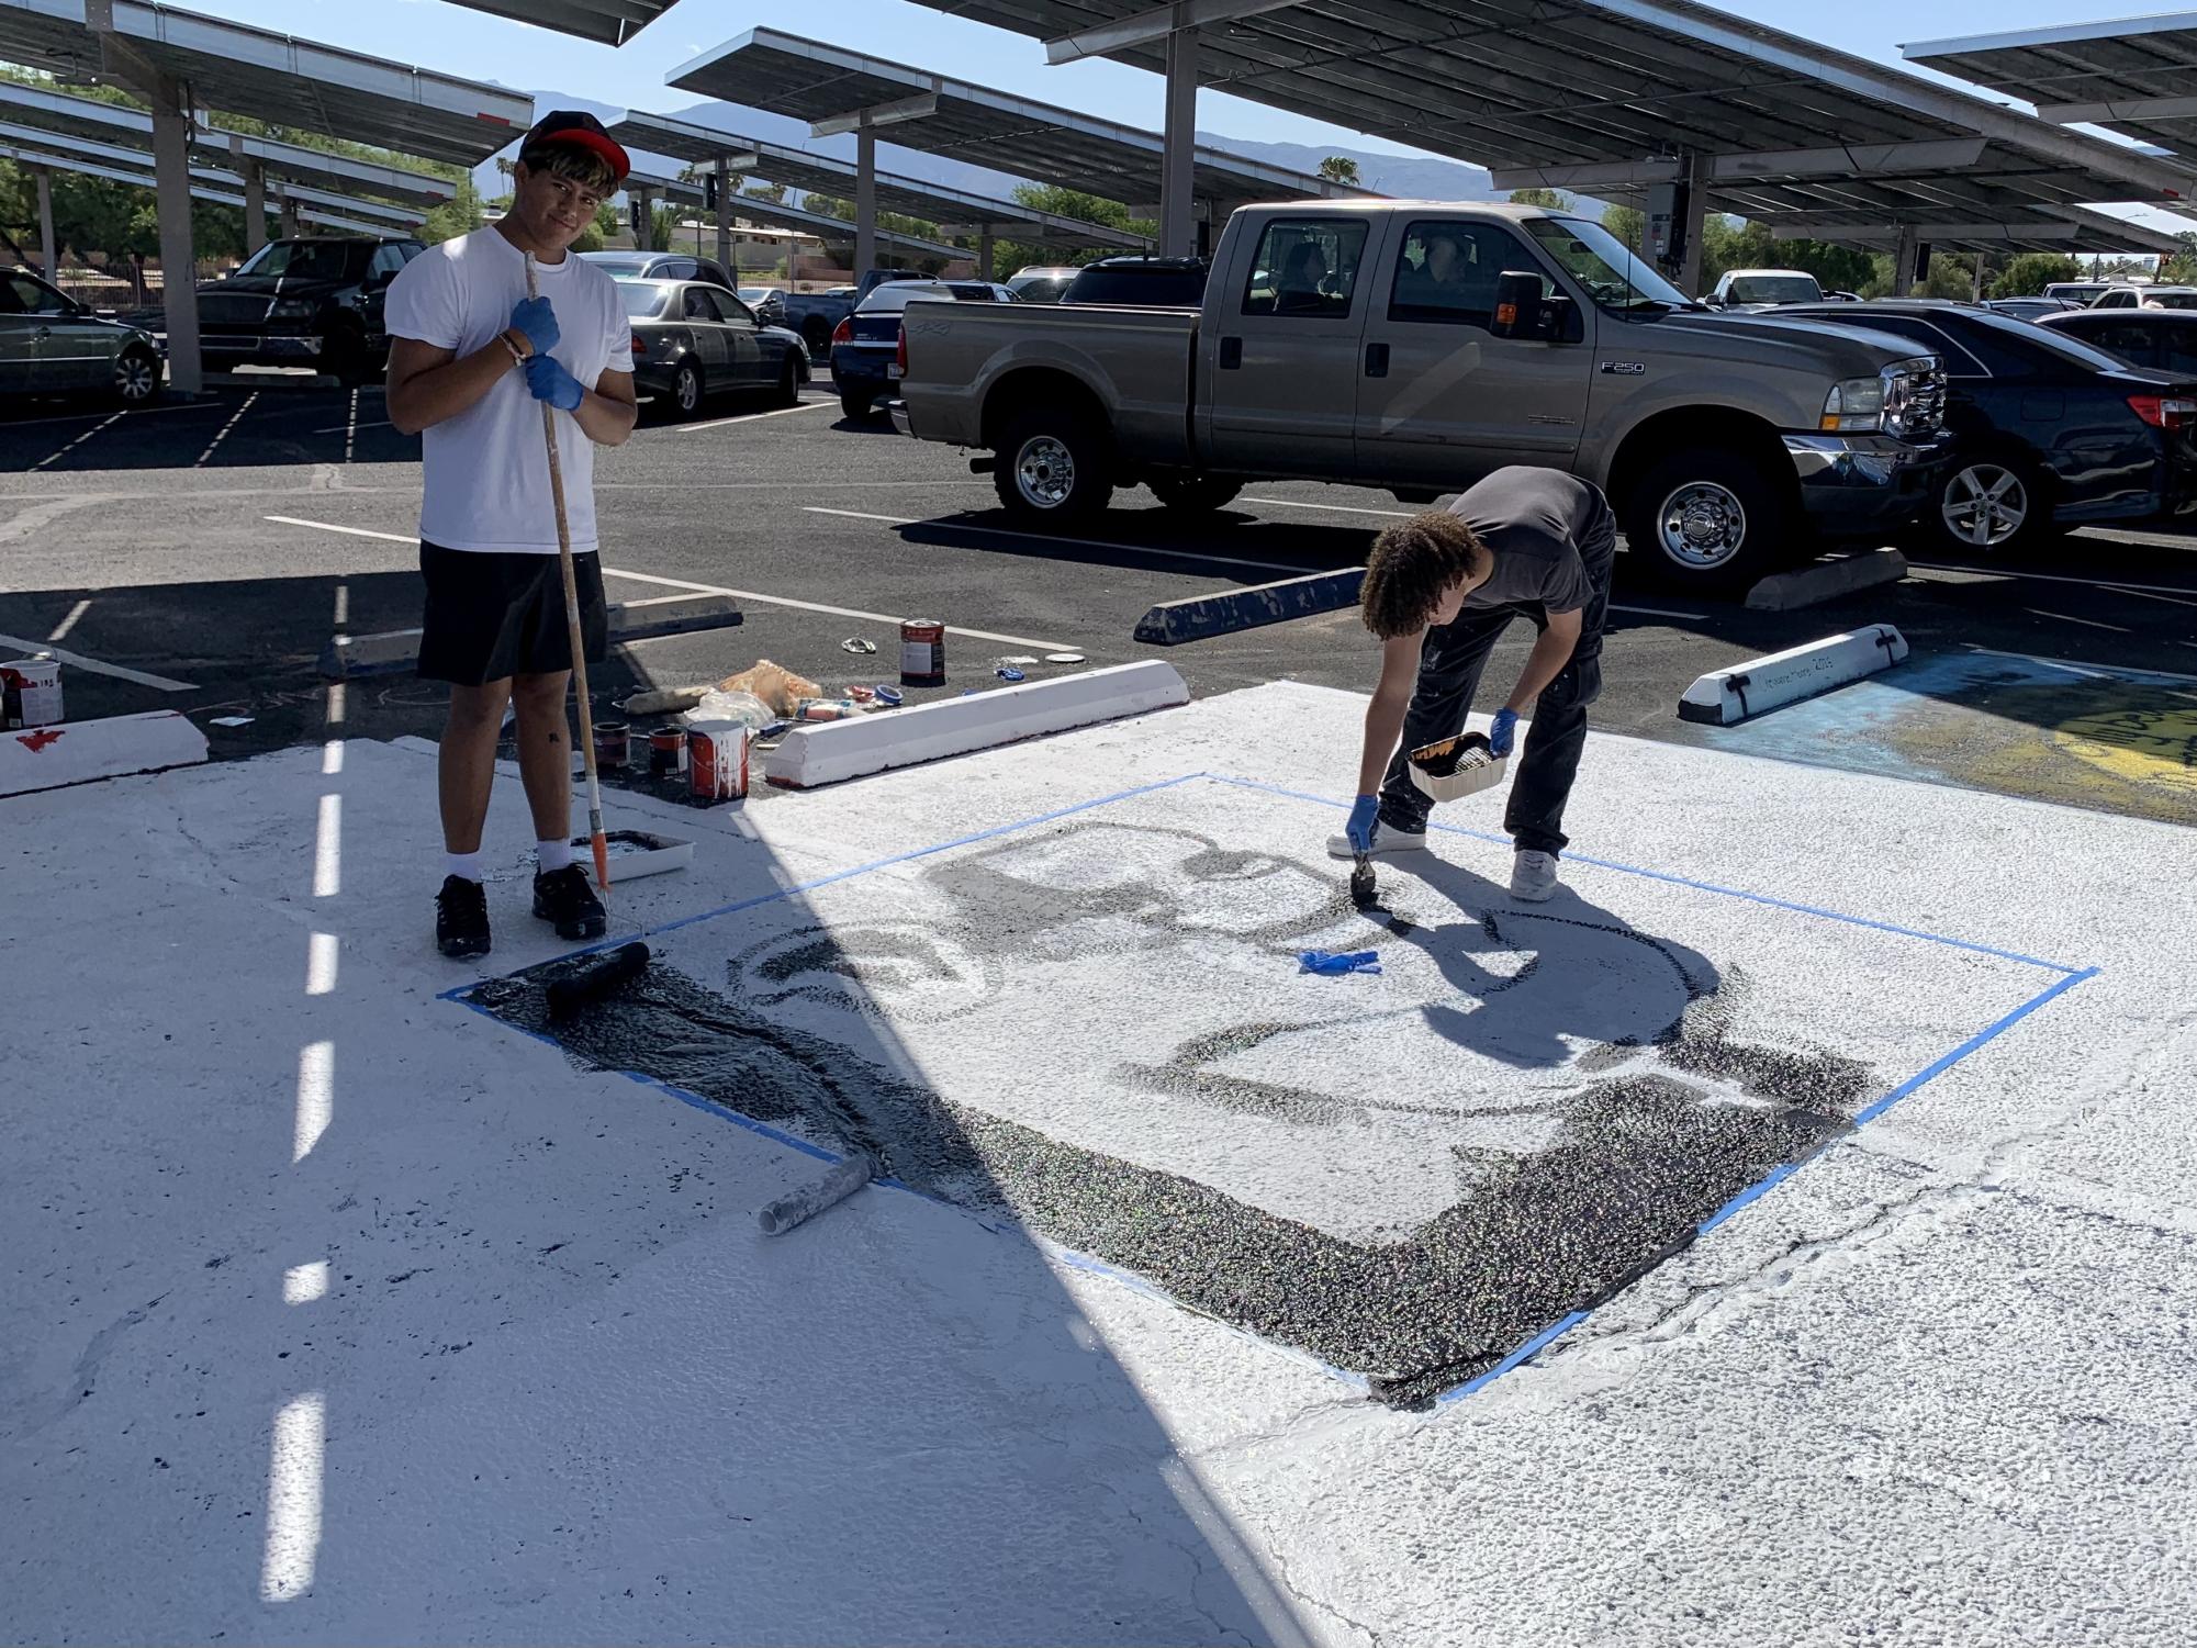
[[[861,185],[859,167],[848,160],[837,160],[828,154],[811,154],[808,149],[793,149],[782,143],[765,143],[734,132],[718,132],[707,125],[696,125],[694,121],[677,121],[668,114],[646,114],[639,110],[631,112],[611,125],[611,136],[628,149],[668,154],[696,165],[725,163],[718,185],[718,259],[725,257],[729,213],[738,204],[738,200],[732,198],[732,189],[736,187],[732,176],[734,171],[762,178],[765,182],[778,182],[787,189],[800,189],[802,193],[822,193],[841,200],[852,200]],[[993,200],[989,196],[969,193],[967,189],[923,182],[921,178],[901,178],[890,171],[879,171],[874,176],[874,200],[881,211],[896,211],[925,222],[943,224],[947,233],[975,235],[978,268],[986,270],[986,279],[991,270],[993,235],[1013,235],[1015,240],[1059,250],[1151,248],[1151,240],[1147,235],[1131,235],[1123,229],[1088,224],[1079,218],[1063,218],[1052,211],[1022,207],[1013,200]]]

